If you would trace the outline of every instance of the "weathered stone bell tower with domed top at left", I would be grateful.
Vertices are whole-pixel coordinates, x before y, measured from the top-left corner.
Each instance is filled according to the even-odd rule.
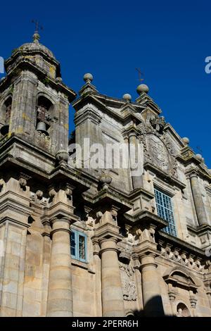
[[[53,53],[33,40],[14,49],[0,81],[0,139],[12,135],[56,156],[68,151],[69,104],[76,93],[60,75]]]

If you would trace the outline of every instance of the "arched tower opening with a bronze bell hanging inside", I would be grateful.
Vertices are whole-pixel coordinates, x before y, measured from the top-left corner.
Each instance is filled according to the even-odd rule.
[[[37,123],[36,130],[49,135],[53,104],[45,96],[39,96],[37,101]]]

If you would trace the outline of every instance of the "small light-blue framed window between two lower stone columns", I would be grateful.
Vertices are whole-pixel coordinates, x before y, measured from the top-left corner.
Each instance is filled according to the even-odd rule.
[[[87,262],[87,235],[77,230],[71,230],[70,251],[72,258]]]

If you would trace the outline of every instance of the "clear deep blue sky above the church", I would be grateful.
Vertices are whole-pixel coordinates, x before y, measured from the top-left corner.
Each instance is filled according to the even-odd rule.
[[[136,99],[135,68],[149,94],[181,137],[211,168],[211,2],[209,1],[10,1],[1,3],[0,56],[30,42],[32,18],[44,25],[41,43],[61,63],[64,82],[77,92],[84,73],[102,94]],[[3,75],[0,74],[0,77]],[[74,110],[70,108],[73,128]]]

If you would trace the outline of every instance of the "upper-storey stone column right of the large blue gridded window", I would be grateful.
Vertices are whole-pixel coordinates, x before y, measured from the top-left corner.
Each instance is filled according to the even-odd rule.
[[[198,185],[198,176],[197,173],[191,173],[191,189],[193,194],[193,201],[196,208],[196,215],[198,218],[198,225],[208,224],[207,216],[205,213],[205,205],[203,203],[203,198],[200,192],[200,187]]]

